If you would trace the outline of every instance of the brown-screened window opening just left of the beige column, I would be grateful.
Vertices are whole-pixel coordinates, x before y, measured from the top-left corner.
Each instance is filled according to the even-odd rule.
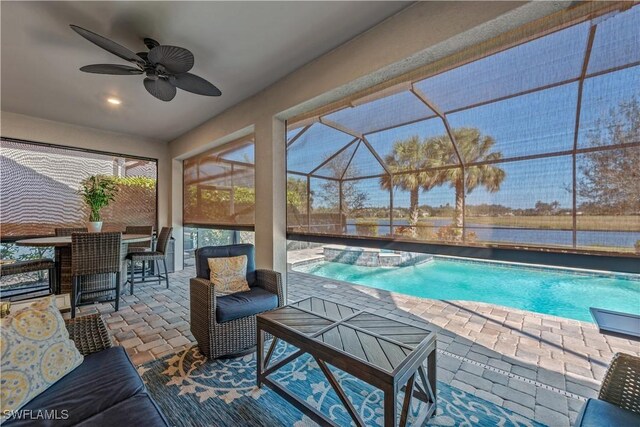
[[[185,226],[253,230],[253,137],[184,161]]]

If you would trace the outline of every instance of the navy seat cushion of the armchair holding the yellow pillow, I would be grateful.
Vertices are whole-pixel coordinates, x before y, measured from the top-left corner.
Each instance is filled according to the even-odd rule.
[[[216,321],[229,322],[241,317],[252,316],[278,306],[278,296],[259,287],[249,292],[238,292],[216,298]]]

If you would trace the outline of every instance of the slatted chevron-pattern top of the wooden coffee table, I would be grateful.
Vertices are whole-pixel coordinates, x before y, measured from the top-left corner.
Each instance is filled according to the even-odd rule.
[[[284,327],[304,342],[329,346],[337,357],[355,358],[392,376],[409,365],[416,350],[435,345],[436,340],[428,329],[316,297],[259,314],[258,320]],[[426,354],[415,357],[423,356]]]

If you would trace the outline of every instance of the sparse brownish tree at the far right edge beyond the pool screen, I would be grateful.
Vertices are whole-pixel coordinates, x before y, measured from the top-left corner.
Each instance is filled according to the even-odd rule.
[[[596,122],[587,134],[589,145],[630,144],[640,141],[640,102],[634,96]],[[581,156],[577,195],[597,213],[640,212],[640,149],[602,150]]]

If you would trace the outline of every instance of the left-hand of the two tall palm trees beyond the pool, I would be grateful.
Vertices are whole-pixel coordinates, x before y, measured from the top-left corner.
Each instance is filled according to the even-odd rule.
[[[412,136],[405,140],[396,141],[393,150],[385,157],[385,162],[393,177],[385,175],[380,178],[380,186],[391,191],[392,188],[408,191],[409,225],[411,234],[416,236],[415,226],[418,223],[418,206],[420,190],[429,191],[437,185],[439,174],[428,170],[437,154],[437,146],[427,141],[421,141],[419,136]]]

